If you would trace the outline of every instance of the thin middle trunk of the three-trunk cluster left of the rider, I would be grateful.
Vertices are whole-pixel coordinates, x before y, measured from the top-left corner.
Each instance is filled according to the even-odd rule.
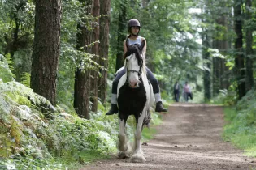
[[[93,42],[99,40],[99,15],[100,15],[100,3],[99,0],[93,0],[93,17],[95,19],[93,23]],[[99,45],[98,42],[93,45],[93,61],[99,63]],[[91,73],[93,79],[91,80],[91,100],[93,102],[92,111],[97,112],[98,110],[98,70],[92,70]]]

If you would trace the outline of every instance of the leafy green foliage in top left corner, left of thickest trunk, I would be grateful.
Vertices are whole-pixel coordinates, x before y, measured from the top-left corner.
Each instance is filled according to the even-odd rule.
[[[31,68],[35,6],[32,1],[0,2],[0,53],[10,53],[16,79]]]

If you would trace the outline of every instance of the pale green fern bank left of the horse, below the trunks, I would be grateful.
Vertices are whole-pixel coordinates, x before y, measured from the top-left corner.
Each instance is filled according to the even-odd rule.
[[[72,158],[77,163],[85,164],[90,160],[86,159],[86,152],[107,155],[115,151],[115,121],[106,121],[101,114],[95,114],[95,120],[88,121],[60,112],[61,108],[56,113],[50,113],[53,119],[47,120],[35,104],[50,103],[20,83],[10,82],[8,89],[6,84],[0,84],[0,104],[5,105],[4,114],[0,117],[0,140],[4,142],[0,153],[16,168],[63,169],[66,165],[58,165],[59,157],[63,157],[63,161]],[[31,99],[29,108],[20,96]]]

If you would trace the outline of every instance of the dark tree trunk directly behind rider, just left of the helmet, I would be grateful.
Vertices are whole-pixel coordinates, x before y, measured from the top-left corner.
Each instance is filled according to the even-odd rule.
[[[117,47],[116,47],[116,64],[115,64],[115,70],[119,70],[122,66],[124,66],[124,49],[123,49],[123,41],[125,39],[125,30],[127,28],[126,23],[128,22],[126,19],[126,4],[124,2],[121,2],[120,4],[120,11],[119,11],[119,23],[118,23],[118,38],[117,38]]]

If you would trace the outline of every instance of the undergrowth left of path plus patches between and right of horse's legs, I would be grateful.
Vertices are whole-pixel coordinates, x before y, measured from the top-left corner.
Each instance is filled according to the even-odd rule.
[[[90,120],[80,118],[72,109],[54,107],[34,93],[28,87],[29,74],[24,78],[24,84],[16,82],[8,61],[0,55],[0,169],[79,169],[115,154],[116,114],[106,117],[106,108],[99,102],[98,113],[91,113]],[[161,122],[157,113],[151,117],[152,125]],[[131,139],[134,125],[129,118]],[[145,128],[142,141],[155,132],[154,126]]]

